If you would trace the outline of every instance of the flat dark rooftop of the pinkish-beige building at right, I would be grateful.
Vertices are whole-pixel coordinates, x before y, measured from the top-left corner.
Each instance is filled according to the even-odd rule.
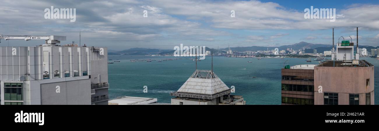
[[[317,66],[326,66],[326,67],[369,67],[374,66],[366,60],[359,60],[359,65],[352,65],[351,60],[341,61],[341,60],[326,60],[320,63]]]

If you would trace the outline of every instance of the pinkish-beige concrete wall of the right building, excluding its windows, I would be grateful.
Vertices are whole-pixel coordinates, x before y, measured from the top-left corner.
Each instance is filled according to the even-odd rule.
[[[366,93],[371,93],[371,105],[374,105],[374,66],[370,67],[322,67],[316,66],[315,105],[324,105],[324,92],[338,93],[338,104],[348,105],[349,94],[359,94],[359,104],[366,104]],[[366,79],[370,85],[366,86]],[[318,86],[323,92],[318,92]]]

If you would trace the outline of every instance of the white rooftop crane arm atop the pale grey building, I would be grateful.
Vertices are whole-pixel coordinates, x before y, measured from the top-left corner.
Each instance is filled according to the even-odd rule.
[[[45,40],[46,44],[43,46],[55,46],[61,43],[60,40],[66,40],[66,36],[50,35],[50,36],[29,36],[29,35],[1,35],[0,40]],[[1,41],[0,41],[1,43]]]

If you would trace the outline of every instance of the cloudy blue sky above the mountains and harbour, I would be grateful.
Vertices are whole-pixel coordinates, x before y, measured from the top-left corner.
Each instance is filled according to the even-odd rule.
[[[359,3],[357,3],[359,2]],[[46,8],[76,8],[76,21],[45,19]],[[336,20],[305,19],[304,9],[336,8]],[[144,10],[147,17],[144,17]],[[235,17],[230,17],[231,11]],[[226,48],[281,46],[301,41],[332,43],[356,38],[379,46],[379,1],[361,0],[2,0],[0,34],[63,35],[61,43],[79,42],[109,49],[173,49],[187,46]],[[11,40],[9,46],[35,46],[42,40]],[[0,46],[7,46],[2,40]]]

